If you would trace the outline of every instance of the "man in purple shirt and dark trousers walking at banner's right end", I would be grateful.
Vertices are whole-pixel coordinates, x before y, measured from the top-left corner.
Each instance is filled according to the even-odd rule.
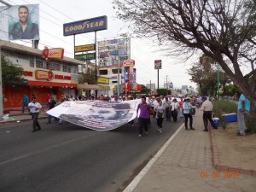
[[[146,96],[142,97],[142,102],[140,104],[138,104],[137,107],[137,116],[138,116],[138,110],[140,109],[140,116],[139,118],[139,135],[138,137],[142,137],[143,136],[143,128],[145,130],[146,135],[148,135],[148,121],[149,121],[149,117],[150,117],[150,105],[148,105],[148,103],[146,102]]]

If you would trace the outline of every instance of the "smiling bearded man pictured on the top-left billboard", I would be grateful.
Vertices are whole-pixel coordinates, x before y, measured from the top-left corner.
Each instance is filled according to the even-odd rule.
[[[16,22],[11,32],[9,40],[15,39],[39,39],[38,24],[29,20],[29,10],[25,5],[21,5],[18,9],[19,22]]]

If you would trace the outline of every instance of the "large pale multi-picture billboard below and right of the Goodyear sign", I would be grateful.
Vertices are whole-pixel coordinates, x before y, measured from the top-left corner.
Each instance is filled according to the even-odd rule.
[[[116,38],[98,41],[98,61],[100,67],[121,65],[131,58],[131,38]]]

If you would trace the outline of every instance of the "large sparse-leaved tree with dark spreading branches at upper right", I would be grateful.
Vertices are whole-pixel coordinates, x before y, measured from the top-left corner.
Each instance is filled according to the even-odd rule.
[[[254,0],[113,0],[113,4],[133,32],[157,39],[170,54],[189,56],[199,50],[217,61],[256,106]]]

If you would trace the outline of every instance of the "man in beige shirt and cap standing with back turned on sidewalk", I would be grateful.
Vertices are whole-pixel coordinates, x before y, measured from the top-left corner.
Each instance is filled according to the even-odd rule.
[[[205,129],[203,131],[208,131],[208,120],[210,121],[214,129],[218,129],[218,127],[214,125],[212,120],[212,108],[213,108],[212,102],[207,100],[206,96],[203,96],[201,99],[202,99],[201,110],[203,111],[203,121],[205,125]]]

